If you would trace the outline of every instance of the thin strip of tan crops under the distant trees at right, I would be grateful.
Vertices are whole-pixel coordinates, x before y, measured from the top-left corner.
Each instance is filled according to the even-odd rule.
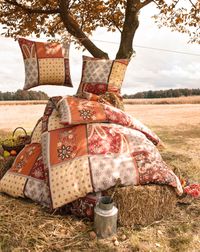
[[[200,96],[181,96],[154,99],[124,99],[125,104],[200,104]]]

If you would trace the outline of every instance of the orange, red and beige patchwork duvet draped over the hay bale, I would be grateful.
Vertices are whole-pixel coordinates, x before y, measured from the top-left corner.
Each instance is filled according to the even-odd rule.
[[[157,149],[160,139],[109,104],[75,96],[52,97],[0,181],[2,192],[56,209],[92,192],[149,183],[182,187]]]

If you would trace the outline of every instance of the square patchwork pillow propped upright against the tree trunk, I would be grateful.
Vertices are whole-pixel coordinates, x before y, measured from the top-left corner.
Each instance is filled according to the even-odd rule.
[[[83,56],[82,78],[77,94],[120,94],[128,59],[96,59]]]

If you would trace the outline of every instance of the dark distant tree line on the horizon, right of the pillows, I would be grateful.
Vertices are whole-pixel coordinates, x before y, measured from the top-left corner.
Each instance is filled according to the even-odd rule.
[[[157,90],[157,91],[144,91],[131,95],[123,95],[124,99],[143,99],[143,98],[169,98],[169,97],[180,97],[180,96],[194,96],[200,95],[200,89],[168,89],[168,90]]]

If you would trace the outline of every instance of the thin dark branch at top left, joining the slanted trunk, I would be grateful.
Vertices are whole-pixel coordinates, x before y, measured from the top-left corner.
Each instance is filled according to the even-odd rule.
[[[60,9],[42,9],[42,8],[30,8],[26,5],[19,4],[16,0],[4,0],[6,3],[11,4],[13,6],[19,7],[21,10],[30,13],[30,14],[57,14],[60,12]]]

